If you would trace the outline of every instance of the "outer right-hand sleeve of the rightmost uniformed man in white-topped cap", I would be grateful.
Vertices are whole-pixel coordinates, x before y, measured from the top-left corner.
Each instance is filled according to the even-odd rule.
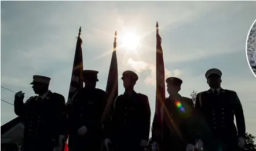
[[[237,96],[236,92],[232,93],[233,101],[234,103],[234,113],[236,116],[236,127],[239,137],[245,137],[246,134],[246,124],[244,120],[244,113],[243,113],[243,107],[239,100],[239,97]]]

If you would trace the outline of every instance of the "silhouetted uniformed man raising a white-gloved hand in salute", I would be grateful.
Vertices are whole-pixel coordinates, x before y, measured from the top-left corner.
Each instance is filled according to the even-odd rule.
[[[17,92],[14,112],[24,119],[24,151],[63,149],[65,139],[65,98],[49,90],[50,78],[33,76],[36,95],[23,103],[24,94]]]

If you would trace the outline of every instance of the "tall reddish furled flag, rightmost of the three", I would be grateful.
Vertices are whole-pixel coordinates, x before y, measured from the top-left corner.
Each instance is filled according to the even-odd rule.
[[[158,22],[156,22],[156,106],[153,119],[152,138],[155,135],[161,135],[163,128],[163,103],[165,100],[165,83],[164,83],[164,62],[162,39],[158,32]],[[156,127],[154,127],[156,125]],[[160,129],[160,130],[159,130]]]

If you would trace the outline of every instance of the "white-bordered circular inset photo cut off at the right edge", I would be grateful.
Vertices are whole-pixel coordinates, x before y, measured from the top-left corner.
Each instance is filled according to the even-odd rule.
[[[246,50],[248,64],[256,77],[256,20],[253,22],[253,25],[251,25],[247,35]]]

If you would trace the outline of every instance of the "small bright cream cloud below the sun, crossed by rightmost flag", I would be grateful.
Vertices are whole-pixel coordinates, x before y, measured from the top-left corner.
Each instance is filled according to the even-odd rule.
[[[129,58],[127,60],[128,65],[134,69],[137,73],[142,73],[143,71],[150,71],[150,74],[148,74],[145,79],[144,82],[147,85],[152,85],[155,86],[156,85],[156,66],[155,65],[151,65],[148,64],[144,61],[134,61],[132,58]],[[167,77],[179,77],[182,74],[182,71],[179,69],[174,69],[173,71],[170,71],[168,69],[164,69],[164,78],[166,79]]]

